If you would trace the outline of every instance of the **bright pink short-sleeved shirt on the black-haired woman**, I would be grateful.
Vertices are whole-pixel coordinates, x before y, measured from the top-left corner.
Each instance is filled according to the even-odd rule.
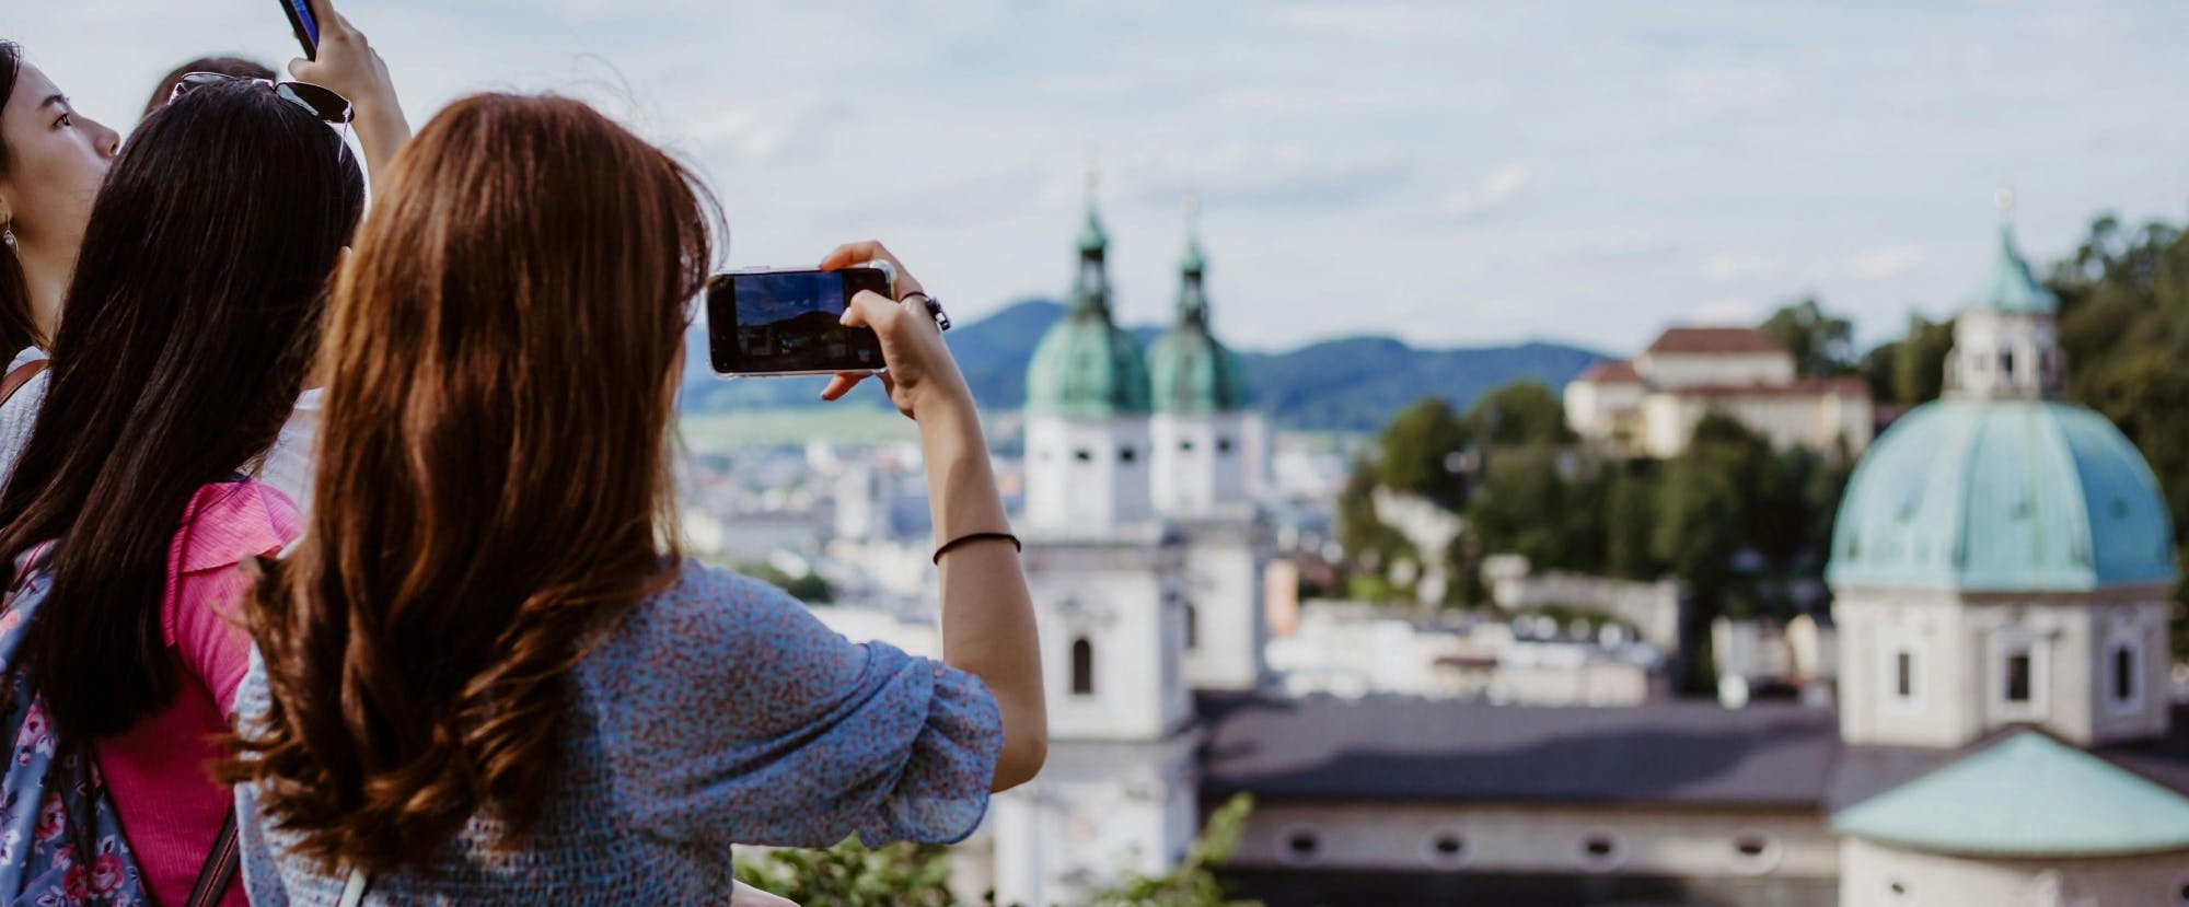
[[[280,552],[298,532],[302,517],[280,491],[223,482],[190,497],[182,532],[169,548],[160,624],[182,668],[182,692],[164,712],[99,745],[99,771],[123,835],[162,905],[190,898],[206,852],[234,806],[230,789],[212,782],[210,765],[221,756],[217,734],[228,730],[236,684],[252,657],[252,638],[234,620],[252,581],[236,565]],[[241,881],[221,905],[250,905]]]

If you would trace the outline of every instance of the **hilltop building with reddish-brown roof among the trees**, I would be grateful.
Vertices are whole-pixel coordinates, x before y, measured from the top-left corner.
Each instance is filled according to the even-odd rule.
[[[1869,386],[1802,379],[1793,353],[1745,326],[1675,326],[1642,355],[1600,361],[1565,386],[1574,434],[1633,456],[1679,456],[1710,414],[1823,454],[1861,454],[1876,429]]]

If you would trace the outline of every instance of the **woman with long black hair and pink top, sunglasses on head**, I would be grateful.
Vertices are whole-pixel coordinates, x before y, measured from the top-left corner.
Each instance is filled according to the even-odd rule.
[[[50,578],[46,605],[7,622],[22,677],[57,747],[96,756],[158,903],[184,903],[232,800],[208,765],[250,659],[223,613],[247,587],[236,565],[298,530],[296,506],[236,469],[289,418],[363,213],[337,103],[208,79],[138,127],[92,206],[53,381],[0,491],[0,552]]]

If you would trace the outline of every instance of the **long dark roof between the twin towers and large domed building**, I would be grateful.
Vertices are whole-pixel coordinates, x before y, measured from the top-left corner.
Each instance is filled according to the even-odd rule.
[[[1204,791],[1292,800],[1821,806],[1832,712],[1202,697]]]

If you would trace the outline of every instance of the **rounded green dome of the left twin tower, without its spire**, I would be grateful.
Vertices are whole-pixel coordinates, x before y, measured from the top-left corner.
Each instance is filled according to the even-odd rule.
[[[1027,412],[1112,418],[1149,412],[1147,361],[1101,309],[1075,309],[1042,335],[1027,366]]]

